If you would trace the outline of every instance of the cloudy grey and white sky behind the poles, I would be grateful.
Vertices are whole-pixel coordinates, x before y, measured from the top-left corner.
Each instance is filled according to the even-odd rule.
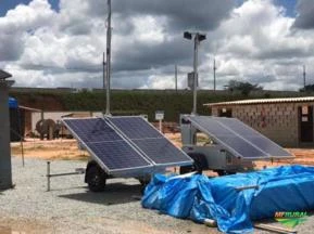
[[[187,87],[201,31],[200,86],[230,79],[298,90],[302,66],[314,83],[313,0],[112,0],[112,86]],[[102,87],[106,0],[1,0],[0,68],[16,87]]]

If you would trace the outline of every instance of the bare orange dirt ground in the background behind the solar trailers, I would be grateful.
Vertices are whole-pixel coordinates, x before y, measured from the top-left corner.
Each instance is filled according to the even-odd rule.
[[[168,138],[176,146],[180,147],[180,134],[179,133],[166,133]],[[35,157],[41,159],[79,159],[87,160],[89,154],[86,151],[78,148],[77,141],[74,139],[58,139],[52,141],[40,141],[39,139],[26,139],[22,144],[18,142],[11,143],[11,153],[14,156],[22,155],[22,148],[24,157]],[[281,159],[274,161],[255,161],[258,168],[280,166],[280,165],[309,165],[314,166],[314,148],[287,148],[291,152],[296,158]]]

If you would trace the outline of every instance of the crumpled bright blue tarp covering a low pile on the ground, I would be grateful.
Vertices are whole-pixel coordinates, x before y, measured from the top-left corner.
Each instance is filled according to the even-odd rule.
[[[237,187],[259,185],[238,191]],[[145,208],[202,223],[217,221],[219,231],[253,231],[252,220],[276,211],[314,209],[314,167],[285,166],[209,179],[205,176],[156,174],[146,187]]]

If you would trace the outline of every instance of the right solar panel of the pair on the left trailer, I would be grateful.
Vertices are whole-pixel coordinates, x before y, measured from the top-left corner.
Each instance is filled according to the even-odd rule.
[[[186,153],[177,148],[142,117],[110,117],[108,119],[154,165],[192,164],[192,159]]]

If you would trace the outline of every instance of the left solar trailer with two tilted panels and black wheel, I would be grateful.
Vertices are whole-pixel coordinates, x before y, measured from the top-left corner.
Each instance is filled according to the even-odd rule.
[[[95,192],[106,179],[137,178],[145,185],[151,174],[193,160],[140,116],[64,118],[63,123],[87,150],[91,160],[85,181]]]

